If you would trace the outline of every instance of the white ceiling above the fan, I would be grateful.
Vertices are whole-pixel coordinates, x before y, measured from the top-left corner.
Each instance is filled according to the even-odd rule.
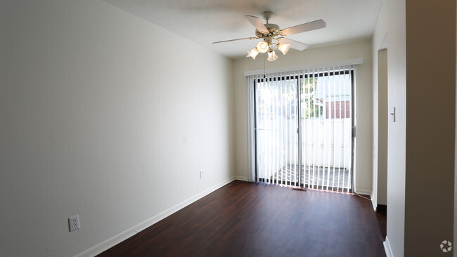
[[[275,15],[270,23],[281,29],[323,19],[327,22],[326,28],[289,37],[313,47],[371,37],[382,5],[382,0],[103,1],[229,58],[245,56],[258,39],[211,43],[255,37],[255,29],[244,15],[255,15],[263,21],[260,13],[273,11]]]

